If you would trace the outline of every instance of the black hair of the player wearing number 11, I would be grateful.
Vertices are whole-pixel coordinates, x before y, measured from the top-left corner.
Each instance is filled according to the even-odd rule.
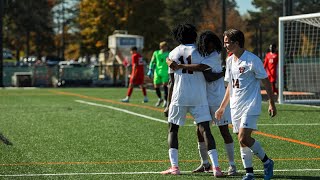
[[[182,23],[173,28],[172,35],[180,44],[193,44],[197,40],[197,29],[192,24]]]

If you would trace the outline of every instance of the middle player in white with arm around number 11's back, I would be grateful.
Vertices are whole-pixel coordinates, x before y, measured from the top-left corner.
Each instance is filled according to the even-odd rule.
[[[230,107],[226,107],[225,113],[221,120],[215,119],[215,112],[219,108],[225,94],[225,85],[222,78],[224,73],[222,72],[220,59],[222,43],[215,33],[212,31],[205,31],[199,36],[197,50],[203,57],[201,64],[178,65],[170,60],[167,60],[167,63],[170,67],[174,67],[174,69],[183,68],[191,71],[202,71],[205,75],[207,80],[207,98],[213,124],[219,127],[220,133],[224,139],[225,149],[229,159],[228,175],[236,175],[237,169],[234,162],[234,143],[228,128],[228,125],[231,124]],[[203,136],[199,133],[198,126],[197,135],[201,165],[192,172],[208,172],[211,169],[211,164],[209,163],[207,148]]]

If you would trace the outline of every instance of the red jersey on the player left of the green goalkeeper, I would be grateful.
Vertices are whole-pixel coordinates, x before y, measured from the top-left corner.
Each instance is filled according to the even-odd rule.
[[[131,72],[130,83],[137,84],[137,85],[143,84],[144,63],[143,63],[142,56],[139,53],[133,53],[131,56],[131,59],[132,59],[132,72]]]

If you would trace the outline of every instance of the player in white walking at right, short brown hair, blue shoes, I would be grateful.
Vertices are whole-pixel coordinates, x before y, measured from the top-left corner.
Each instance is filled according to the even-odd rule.
[[[261,59],[244,49],[244,35],[240,30],[229,29],[224,32],[223,38],[225,48],[233,55],[226,62],[225,81],[228,82],[228,87],[215,116],[221,119],[230,100],[233,131],[238,134],[241,159],[246,170],[243,180],[254,179],[253,154],[263,162],[264,179],[269,180],[273,176],[274,162],[251,134],[257,130],[257,121],[261,113],[260,81],[267,91],[270,116],[274,117],[277,114],[271,85]]]

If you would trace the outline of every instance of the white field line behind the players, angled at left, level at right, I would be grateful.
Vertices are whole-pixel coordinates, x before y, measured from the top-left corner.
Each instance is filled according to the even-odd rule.
[[[158,119],[158,118],[154,118],[154,117],[151,117],[151,116],[146,116],[146,115],[143,115],[143,114],[139,114],[139,113],[135,113],[135,112],[132,112],[132,111],[128,111],[126,109],[121,109],[121,108],[116,108],[116,107],[113,107],[113,106],[108,106],[108,105],[104,105],[104,104],[98,104],[98,103],[93,103],[93,102],[88,102],[88,101],[83,101],[83,100],[75,100],[76,102],[78,103],[82,103],[82,104],[88,104],[88,105],[91,105],[91,106],[98,106],[98,107],[104,107],[104,108],[108,108],[108,109],[112,109],[112,110],[116,110],[116,111],[121,111],[121,112],[124,112],[124,113],[127,113],[127,114],[132,114],[132,115],[135,115],[135,116],[139,116],[139,117],[142,117],[142,118],[146,118],[146,119],[150,119],[152,121],[157,121],[157,122],[161,122],[161,123],[168,123],[167,120],[163,120],[163,119]],[[320,123],[311,123],[311,124],[258,124],[258,126],[319,126]],[[195,126],[195,124],[186,124],[184,126]]]

